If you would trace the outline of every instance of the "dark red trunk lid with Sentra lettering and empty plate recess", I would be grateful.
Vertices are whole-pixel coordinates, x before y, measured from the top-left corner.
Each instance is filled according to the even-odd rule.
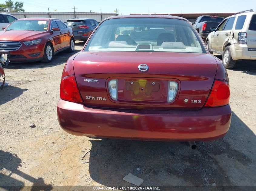
[[[141,64],[148,65],[148,70],[141,72]],[[203,53],[91,51],[81,52],[74,59],[81,97],[91,107],[200,109],[216,70],[214,57]],[[108,88],[113,79],[118,82],[116,100]],[[178,88],[174,99],[168,102],[170,81],[176,82]]]

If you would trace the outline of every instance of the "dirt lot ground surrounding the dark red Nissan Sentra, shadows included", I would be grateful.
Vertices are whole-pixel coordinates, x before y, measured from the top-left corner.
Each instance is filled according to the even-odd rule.
[[[83,45],[77,41],[75,52]],[[10,63],[5,69],[0,190],[13,185],[132,186],[122,179],[136,167],[141,168],[137,176],[144,180],[142,186],[256,186],[256,62],[240,61],[228,70],[233,113],[226,136],[197,142],[198,149],[191,150],[187,142],[95,139],[64,132],[56,105],[62,69],[71,55],[58,53],[50,64]]]

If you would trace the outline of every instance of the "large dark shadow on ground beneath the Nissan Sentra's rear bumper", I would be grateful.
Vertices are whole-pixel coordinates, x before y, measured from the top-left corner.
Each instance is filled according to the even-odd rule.
[[[191,150],[188,142],[107,138],[90,142],[90,176],[104,186],[134,186],[123,177],[137,167],[142,186],[256,185],[256,172],[251,170],[256,136],[234,113],[228,133],[216,141],[197,142],[197,150]]]

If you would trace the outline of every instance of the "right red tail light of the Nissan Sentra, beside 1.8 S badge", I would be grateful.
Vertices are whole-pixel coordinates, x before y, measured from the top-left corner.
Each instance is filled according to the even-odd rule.
[[[229,85],[225,81],[215,80],[204,107],[218,107],[229,103]]]

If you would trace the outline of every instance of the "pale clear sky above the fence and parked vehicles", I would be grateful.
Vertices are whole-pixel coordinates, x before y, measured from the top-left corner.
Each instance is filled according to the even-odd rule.
[[[5,0],[0,0],[0,3]],[[16,1],[16,0],[14,0]],[[120,14],[130,13],[212,13],[239,12],[256,9],[256,0],[17,0],[24,2],[26,12],[111,12],[120,10]]]

